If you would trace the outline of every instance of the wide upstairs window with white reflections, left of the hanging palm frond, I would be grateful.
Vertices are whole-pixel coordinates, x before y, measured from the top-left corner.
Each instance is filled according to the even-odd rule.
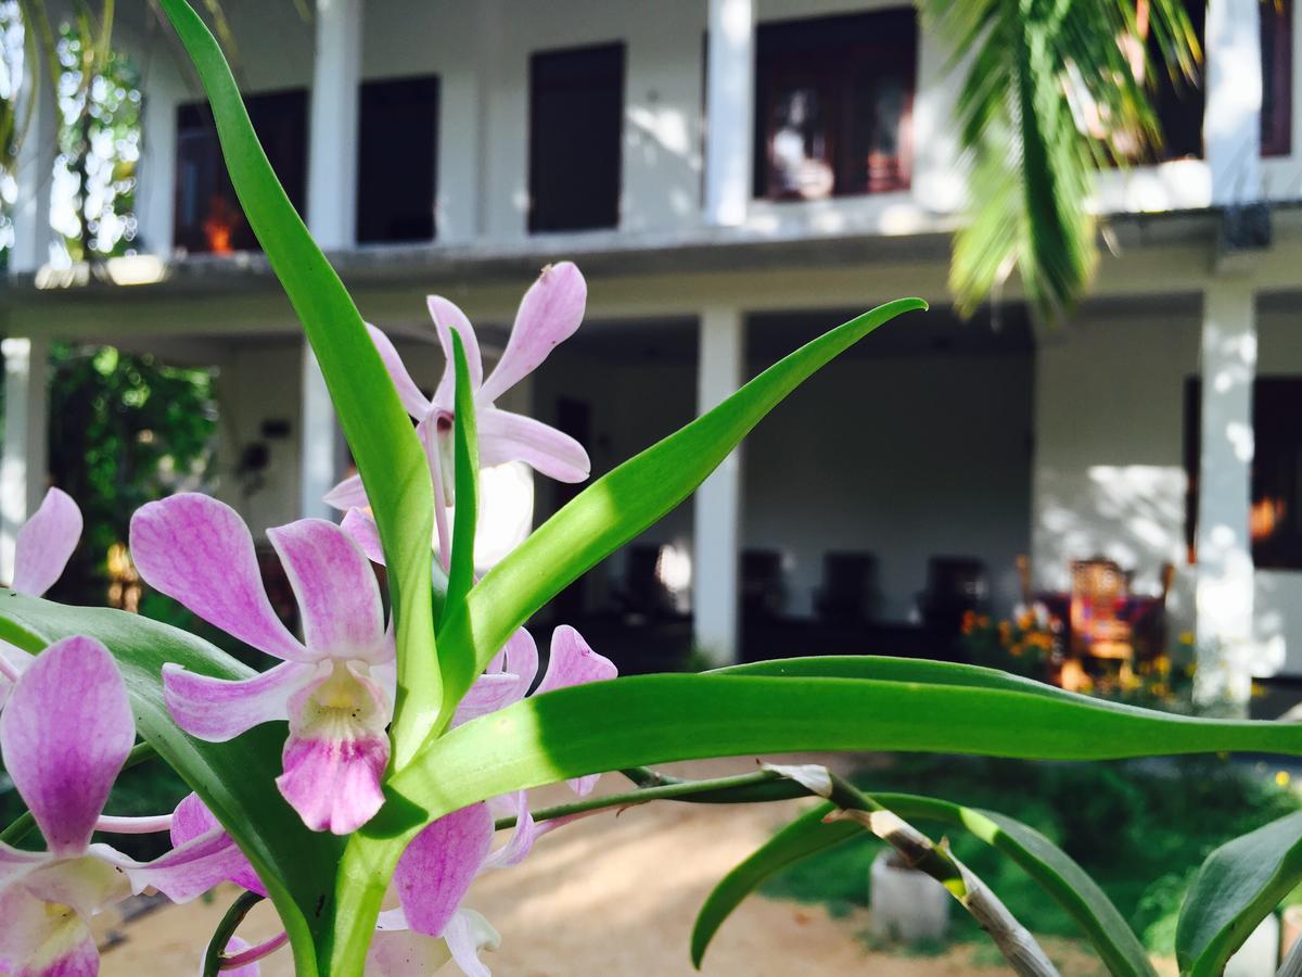
[[[760,25],[755,194],[907,189],[917,55],[911,8]]]

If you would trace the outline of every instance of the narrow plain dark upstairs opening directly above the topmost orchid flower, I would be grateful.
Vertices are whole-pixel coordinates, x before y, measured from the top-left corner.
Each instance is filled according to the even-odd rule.
[[[624,44],[530,60],[529,229],[620,223]]]

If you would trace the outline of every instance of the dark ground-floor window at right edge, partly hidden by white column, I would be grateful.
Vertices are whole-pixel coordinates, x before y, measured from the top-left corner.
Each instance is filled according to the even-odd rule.
[[[1190,563],[1198,530],[1200,383],[1186,383],[1185,534]],[[1253,495],[1249,533],[1262,569],[1302,569],[1302,376],[1258,376],[1253,387]]]

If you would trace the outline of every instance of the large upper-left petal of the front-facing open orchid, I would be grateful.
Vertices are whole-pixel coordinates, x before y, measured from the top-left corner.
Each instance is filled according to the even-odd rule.
[[[225,503],[184,492],[142,505],[132,559],[146,584],[208,624],[268,655],[307,658],[267,599],[249,526]]]

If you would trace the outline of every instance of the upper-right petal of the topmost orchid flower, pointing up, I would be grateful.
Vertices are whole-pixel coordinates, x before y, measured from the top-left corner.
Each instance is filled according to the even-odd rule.
[[[536,370],[583,322],[587,283],[573,262],[548,264],[516,313],[506,349],[479,391],[488,404]]]

